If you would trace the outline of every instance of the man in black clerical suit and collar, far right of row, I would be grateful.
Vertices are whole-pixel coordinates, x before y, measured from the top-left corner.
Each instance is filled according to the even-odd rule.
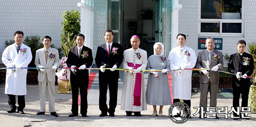
[[[232,88],[233,88],[233,107],[239,107],[239,98],[242,95],[241,107],[248,107],[248,95],[250,88],[250,78],[254,69],[254,61],[252,55],[244,52],[246,42],[240,40],[237,42],[238,53],[232,54],[229,58],[228,70],[233,75]],[[236,110],[237,111],[237,110]],[[238,111],[239,112],[239,111]],[[239,119],[239,115],[234,113],[234,120]],[[245,119],[245,118],[244,118]],[[247,118],[246,118],[247,119]]]

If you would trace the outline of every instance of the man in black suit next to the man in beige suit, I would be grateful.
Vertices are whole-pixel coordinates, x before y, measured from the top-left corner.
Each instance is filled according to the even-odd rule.
[[[79,67],[79,70],[71,69],[73,73],[70,73],[70,81],[72,88],[72,113],[69,117],[78,115],[78,94],[80,89],[81,95],[81,110],[82,117],[87,117],[87,89],[89,84],[88,70],[84,70],[86,67],[90,67],[93,63],[92,50],[84,46],[84,35],[77,34],[75,41],[77,46],[70,48],[67,56],[67,66],[74,68]]]

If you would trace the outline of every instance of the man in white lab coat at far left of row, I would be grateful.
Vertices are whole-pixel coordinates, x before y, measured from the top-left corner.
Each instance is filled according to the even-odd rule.
[[[6,47],[2,55],[2,62],[7,66],[5,94],[8,95],[8,103],[11,107],[7,112],[24,114],[25,95],[27,94],[27,65],[32,60],[30,48],[22,44],[24,33],[17,31],[14,33],[13,39],[15,43]],[[16,97],[18,95],[19,107],[16,107]]]

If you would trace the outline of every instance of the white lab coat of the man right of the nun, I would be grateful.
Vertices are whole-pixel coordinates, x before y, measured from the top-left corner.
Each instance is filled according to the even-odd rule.
[[[190,57],[185,55],[185,51],[189,51]],[[170,69],[174,70],[175,67],[182,69],[192,69],[195,67],[196,54],[195,51],[186,46],[180,55],[180,47],[175,47],[169,53],[168,60],[170,62]],[[182,70],[180,75],[177,71],[172,71],[172,86],[174,99],[190,100],[191,99],[191,76],[192,70]]]

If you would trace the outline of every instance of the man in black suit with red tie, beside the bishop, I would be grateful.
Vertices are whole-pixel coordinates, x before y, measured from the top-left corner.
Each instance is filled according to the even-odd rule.
[[[113,43],[113,32],[107,30],[104,33],[104,38],[106,43],[98,46],[95,63],[99,71],[99,85],[100,85],[100,97],[99,106],[101,110],[100,116],[115,116],[115,107],[117,103],[117,88],[119,79],[119,68],[123,60],[123,49],[122,45],[118,43]],[[111,68],[110,70],[105,70],[104,68]],[[107,102],[107,91],[109,89],[109,108],[106,104]]]

